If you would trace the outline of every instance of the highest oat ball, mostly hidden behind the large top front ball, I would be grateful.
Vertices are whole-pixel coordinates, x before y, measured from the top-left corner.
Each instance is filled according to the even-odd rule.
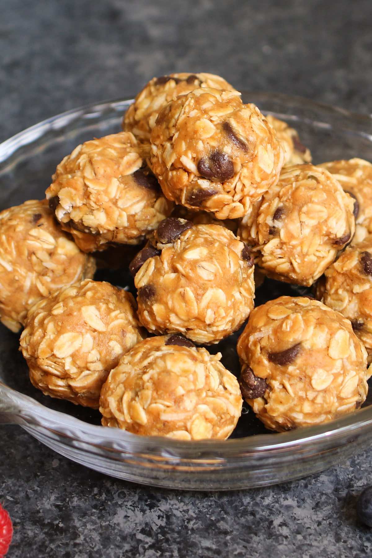
[[[178,95],[204,87],[235,91],[232,85],[214,74],[181,73],[152,78],[124,114],[123,129],[132,132],[138,141],[149,143],[160,110]]]

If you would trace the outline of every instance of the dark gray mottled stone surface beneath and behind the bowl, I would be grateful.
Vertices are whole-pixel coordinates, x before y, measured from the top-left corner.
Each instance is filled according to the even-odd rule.
[[[2,0],[0,140],[69,108],[135,93],[153,75],[210,71],[238,88],[371,112],[369,0]],[[325,473],[231,493],[104,477],[2,426],[10,557],[370,556],[355,499],[365,449]]]

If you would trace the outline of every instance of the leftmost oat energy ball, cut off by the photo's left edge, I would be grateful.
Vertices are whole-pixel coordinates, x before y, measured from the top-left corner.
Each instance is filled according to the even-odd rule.
[[[0,320],[17,332],[35,302],[93,277],[94,258],[57,226],[46,200],[0,213]]]

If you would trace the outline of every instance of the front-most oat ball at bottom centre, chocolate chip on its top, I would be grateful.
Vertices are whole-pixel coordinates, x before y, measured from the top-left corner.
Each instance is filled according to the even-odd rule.
[[[225,440],[243,401],[220,358],[179,335],[145,339],[104,383],[102,424],[141,436]]]

